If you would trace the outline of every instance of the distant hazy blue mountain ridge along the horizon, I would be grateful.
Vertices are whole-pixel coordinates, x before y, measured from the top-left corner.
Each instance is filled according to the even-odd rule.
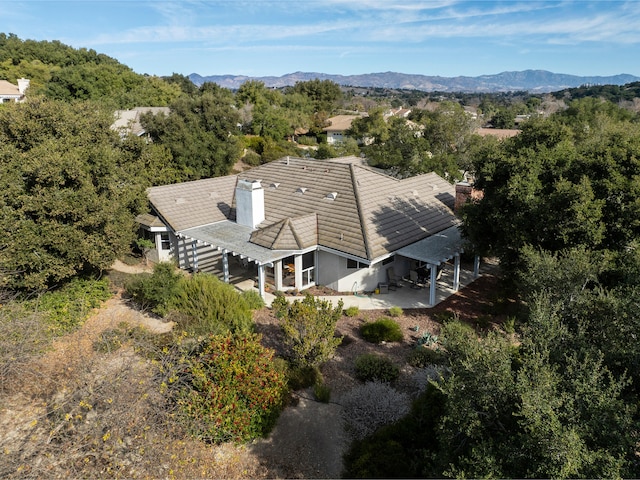
[[[352,87],[398,88],[407,90],[422,90],[425,92],[466,92],[493,93],[509,91],[528,91],[532,93],[547,93],[575,88],[582,85],[625,85],[640,81],[640,77],[630,74],[611,76],[567,75],[552,73],[546,70],[524,70],[519,72],[502,72],[495,75],[480,75],[478,77],[441,77],[417,75],[397,72],[366,73],[362,75],[332,75],[316,72],[295,72],[281,77],[249,77],[245,75],[209,75],[200,76],[197,73],[189,75],[189,79],[200,86],[205,82],[217,83],[221,87],[236,89],[247,80],[258,80],[267,87],[286,87],[296,82],[314,79],[331,80],[338,85]]]

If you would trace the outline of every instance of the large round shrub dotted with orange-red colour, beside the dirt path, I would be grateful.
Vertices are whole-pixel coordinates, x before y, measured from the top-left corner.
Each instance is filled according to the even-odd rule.
[[[177,393],[179,418],[196,438],[244,442],[265,436],[286,399],[284,375],[273,351],[255,334],[211,336],[181,367]]]

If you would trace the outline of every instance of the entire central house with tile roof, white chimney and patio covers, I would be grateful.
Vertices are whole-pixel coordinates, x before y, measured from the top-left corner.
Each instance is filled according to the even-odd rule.
[[[280,291],[370,292],[388,285],[390,273],[426,266],[434,305],[442,263],[453,259],[459,286],[455,195],[435,173],[399,180],[362,165],[286,157],[237,175],[152,187],[148,198],[166,228],[151,215],[138,220],[168,234],[161,259],[170,255],[192,271],[216,268],[227,282],[230,257],[240,259],[256,272],[263,297],[267,282]]]

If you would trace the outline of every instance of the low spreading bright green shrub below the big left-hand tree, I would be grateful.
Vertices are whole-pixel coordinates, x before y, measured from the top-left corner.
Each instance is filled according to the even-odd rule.
[[[82,325],[91,310],[112,295],[107,279],[75,278],[59,290],[44,293],[28,302],[28,305],[45,315],[54,334],[62,335]]]

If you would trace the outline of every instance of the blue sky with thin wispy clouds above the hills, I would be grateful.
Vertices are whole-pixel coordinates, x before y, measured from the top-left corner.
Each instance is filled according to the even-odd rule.
[[[640,76],[640,0],[4,1],[0,32],[152,75]]]

